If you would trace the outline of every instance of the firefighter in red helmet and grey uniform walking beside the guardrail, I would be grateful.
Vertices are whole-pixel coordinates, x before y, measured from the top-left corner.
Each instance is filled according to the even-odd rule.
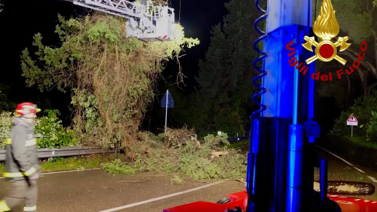
[[[37,209],[37,179],[40,165],[34,137],[34,119],[40,109],[33,103],[16,108],[13,128],[6,141],[6,162],[3,177],[11,182],[10,193],[0,201],[0,212],[9,211],[25,200],[24,211]]]

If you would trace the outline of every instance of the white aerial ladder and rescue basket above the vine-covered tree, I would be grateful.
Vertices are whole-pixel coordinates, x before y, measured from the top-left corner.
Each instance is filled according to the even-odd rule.
[[[174,9],[136,0],[66,0],[75,5],[127,18],[127,36],[145,42],[174,39]],[[149,1],[152,2],[152,1]]]

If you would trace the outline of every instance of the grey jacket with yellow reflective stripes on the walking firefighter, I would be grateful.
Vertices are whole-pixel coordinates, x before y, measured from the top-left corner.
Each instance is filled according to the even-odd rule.
[[[17,181],[28,179],[40,172],[33,123],[15,117],[6,144],[3,177],[9,181]]]

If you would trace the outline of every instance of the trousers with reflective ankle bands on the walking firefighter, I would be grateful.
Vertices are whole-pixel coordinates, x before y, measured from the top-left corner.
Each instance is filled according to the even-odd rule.
[[[12,182],[12,189],[8,195],[0,201],[0,212],[9,211],[25,200],[24,211],[37,209],[38,188],[37,180],[18,180]]]

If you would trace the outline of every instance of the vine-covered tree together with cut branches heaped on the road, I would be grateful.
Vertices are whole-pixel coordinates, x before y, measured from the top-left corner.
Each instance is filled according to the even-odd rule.
[[[245,155],[227,149],[226,136],[209,135],[201,144],[187,129],[159,136],[138,131],[164,62],[197,45],[197,39],[185,38],[176,25],[174,41],[144,43],[126,36],[123,18],[103,13],[69,20],[59,16],[59,21],[55,32],[61,46],[44,46],[36,34],[37,58],[28,49],[22,52],[23,76],[41,91],[72,92],[81,144],[126,149],[126,161],[103,164],[104,169],[180,172],[196,179],[245,177]]]

